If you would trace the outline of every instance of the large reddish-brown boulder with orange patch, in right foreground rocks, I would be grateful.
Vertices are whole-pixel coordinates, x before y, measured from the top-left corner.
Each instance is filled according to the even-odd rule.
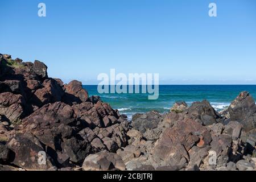
[[[184,119],[166,129],[152,150],[152,165],[183,168],[189,162],[188,151],[193,146],[209,146],[212,138],[206,127],[193,119]]]

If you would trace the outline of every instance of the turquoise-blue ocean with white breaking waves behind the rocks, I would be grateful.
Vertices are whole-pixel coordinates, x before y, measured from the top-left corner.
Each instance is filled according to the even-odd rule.
[[[208,100],[220,111],[242,91],[250,92],[256,99],[256,85],[159,85],[158,100],[148,100],[148,94],[100,94],[97,85],[83,85],[89,96],[100,96],[119,113],[126,114],[129,119],[135,113],[157,110],[160,113],[170,111],[176,101],[185,101],[191,105],[195,101]]]

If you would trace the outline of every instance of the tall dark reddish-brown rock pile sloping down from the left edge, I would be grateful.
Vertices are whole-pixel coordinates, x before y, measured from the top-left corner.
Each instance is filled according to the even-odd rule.
[[[26,170],[76,168],[90,154],[127,145],[125,118],[100,97],[89,97],[81,82],[49,78],[40,61],[0,58],[2,164]],[[46,152],[46,165],[38,163],[40,151]]]

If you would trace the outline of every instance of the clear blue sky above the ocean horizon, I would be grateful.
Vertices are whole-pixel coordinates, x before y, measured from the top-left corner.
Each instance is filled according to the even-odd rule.
[[[1,53],[44,61],[65,82],[97,84],[115,68],[160,84],[256,84],[255,0],[10,0],[0,20]]]

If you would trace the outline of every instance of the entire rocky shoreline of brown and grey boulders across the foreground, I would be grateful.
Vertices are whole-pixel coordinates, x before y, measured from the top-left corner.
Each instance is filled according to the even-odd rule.
[[[0,170],[255,171],[255,143],[248,92],[220,113],[208,101],[177,102],[130,123],[81,82],[63,84],[40,61],[0,54]]]

